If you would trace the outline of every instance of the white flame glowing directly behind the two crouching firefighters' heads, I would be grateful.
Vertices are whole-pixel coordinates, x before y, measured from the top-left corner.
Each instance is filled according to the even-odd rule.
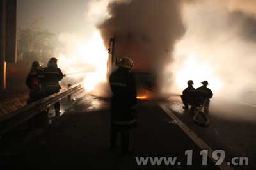
[[[211,65],[196,60],[195,56],[190,56],[176,73],[176,82],[179,89],[186,88],[188,80],[193,80],[195,87],[202,86],[200,82],[207,80],[212,91],[219,91],[223,87],[220,79],[214,75]]]

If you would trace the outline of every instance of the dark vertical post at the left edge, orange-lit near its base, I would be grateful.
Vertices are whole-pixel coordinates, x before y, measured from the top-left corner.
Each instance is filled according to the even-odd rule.
[[[6,61],[17,59],[17,0],[0,0],[0,92],[6,90]]]

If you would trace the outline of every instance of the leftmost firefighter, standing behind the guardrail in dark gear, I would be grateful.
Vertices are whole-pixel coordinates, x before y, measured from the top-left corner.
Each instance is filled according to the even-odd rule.
[[[44,81],[44,70],[38,61],[34,61],[31,70],[26,77],[26,86],[29,88],[28,104],[36,102],[44,97],[44,89],[42,83]]]

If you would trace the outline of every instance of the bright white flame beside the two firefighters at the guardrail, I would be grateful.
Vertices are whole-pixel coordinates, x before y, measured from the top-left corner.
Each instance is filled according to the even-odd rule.
[[[60,54],[58,63],[66,74],[74,73],[72,78],[82,75],[85,90],[93,91],[97,84],[106,82],[108,52],[99,31],[93,33],[90,41],[75,43],[75,47],[72,47],[72,54],[68,56]]]

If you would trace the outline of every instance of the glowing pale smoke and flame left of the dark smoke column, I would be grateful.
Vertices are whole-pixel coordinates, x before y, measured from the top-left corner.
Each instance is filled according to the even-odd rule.
[[[56,57],[58,66],[67,74],[61,81],[63,86],[83,81],[86,91],[93,91],[106,82],[108,52],[96,24],[108,15],[107,4],[84,0],[18,1],[20,60],[38,60],[47,66],[49,58]],[[47,36],[50,34],[54,43]],[[44,52],[49,42],[53,50]],[[26,67],[28,72],[30,63]]]

